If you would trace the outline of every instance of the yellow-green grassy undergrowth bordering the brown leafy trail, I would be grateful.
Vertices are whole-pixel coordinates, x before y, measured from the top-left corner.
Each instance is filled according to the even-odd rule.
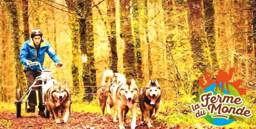
[[[245,122],[233,122],[232,124],[226,126],[215,126],[208,123],[204,118],[195,119],[193,113],[190,109],[190,104],[193,103],[195,96],[183,95],[180,98],[173,98],[170,100],[163,101],[161,105],[158,118],[154,123],[161,123],[172,128],[175,126],[181,128],[256,128],[256,104],[249,102],[244,102],[251,108],[253,116],[251,118],[246,118]],[[15,105],[13,103],[0,103],[0,110],[15,112]],[[92,102],[83,102],[81,96],[72,96],[71,112],[91,112],[98,113],[101,115],[101,109],[98,104],[98,99],[95,98]],[[112,113],[114,112],[112,108]],[[107,110],[105,109],[105,113]],[[22,114],[25,114],[25,105],[22,104]],[[129,112],[127,116],[131,116]],[[137,119],[140,119],[141,112],[138,108]],[[0,119],[0,125],[10,126],[11,122],[4,119]]]

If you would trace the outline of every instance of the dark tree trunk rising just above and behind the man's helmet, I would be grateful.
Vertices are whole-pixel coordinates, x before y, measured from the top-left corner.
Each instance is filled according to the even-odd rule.
[[[28,16],[28,7],[29,6],[28,6],[28,4],[29,4],[28,0],[22,0],[24,41],[27,41],[27,40],[30,39],[30,36],[29,36],[29,16]]]

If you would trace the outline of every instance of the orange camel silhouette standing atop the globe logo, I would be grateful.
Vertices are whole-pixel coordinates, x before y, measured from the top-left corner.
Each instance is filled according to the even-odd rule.
[[[235,71],[235,68],[229,68],[229,74],[227,74],[227,72],[223,71],[222,69],[219,70],[219,73],[216,76],[216,90],[215,91],[218,90],[217,87],[219,86],[220,81],[222,81],[221,93],[224,93],[223,89],[224,89],[224,83],[226,81],[227,91],[230,92],[228,89],[228,81],[232,79],[234,71]],[[220,89],[220,86],[219,86],[219,89]]]

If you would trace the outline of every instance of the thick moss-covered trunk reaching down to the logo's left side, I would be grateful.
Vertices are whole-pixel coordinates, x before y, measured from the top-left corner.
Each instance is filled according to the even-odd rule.
[[[187,0],[189,8],[189,38],[193,59],[193,77],[191,79],[192,94],[198,90],[198,78],[211,73],[211,59],[203,25],[202,1]]]

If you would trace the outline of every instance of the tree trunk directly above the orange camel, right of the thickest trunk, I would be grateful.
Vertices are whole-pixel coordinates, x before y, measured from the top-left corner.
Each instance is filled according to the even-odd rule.
[[[216,77],[219,71],[219,60],[216,53],[216,30],[215,30],[215,9],[214,0],[203,0],[204,22],[207,32],[207,41],[209,45],[210,57],[212,62],[212,71],[215,72],[212,77]],[[215,75],[215,76],[214,76]]]

